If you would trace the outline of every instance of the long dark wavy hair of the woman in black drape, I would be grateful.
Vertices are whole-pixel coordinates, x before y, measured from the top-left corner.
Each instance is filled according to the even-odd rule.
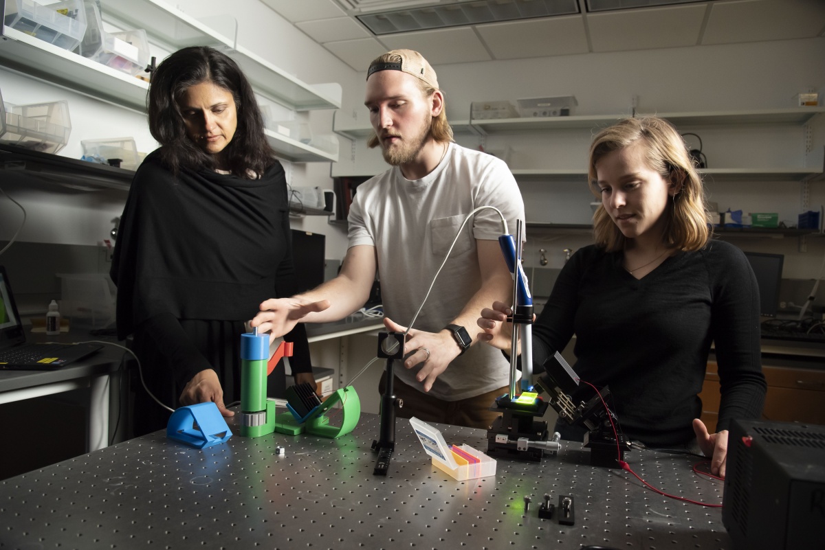
[[[178,100],[186,91],[201,82],[212,82],[229,91],[238,111],[238,127],[224,149],[224,161],[229,171],[240,178],[262,175],[275,162],[266,135],[263,118],[252,86],[243,76],[238,63],[228,55],[208,46],[180,49],[163,60],[152,74],[147,96],[149,131],[163,146],[160,160],[176,174],[181,168],[214,170],[213,156],[203,151],[187,137]]]

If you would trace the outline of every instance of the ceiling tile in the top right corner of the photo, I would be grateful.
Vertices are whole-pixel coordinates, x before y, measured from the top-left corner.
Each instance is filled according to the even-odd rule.
[[[711,7],[702,44],[813,38],[825,26],[822,0],[747,0]]]

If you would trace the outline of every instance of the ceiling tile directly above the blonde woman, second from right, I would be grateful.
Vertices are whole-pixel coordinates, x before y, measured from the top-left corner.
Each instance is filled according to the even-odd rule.
[[[676,48],[699,42],[706,4],[587,14],[594,52]]]

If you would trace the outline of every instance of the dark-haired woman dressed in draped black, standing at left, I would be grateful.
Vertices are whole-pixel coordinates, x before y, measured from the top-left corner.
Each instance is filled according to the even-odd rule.
[[[134,333],[148,389],[170,408],[240,397],[244,321],[270,297],[295,294],[285,172],[263,133],[238,65],[208,47],[163,60],[148,93],[161,147],[140,165],[126,201],[111,277],[118,338]],[[296,383],[315,387],[303,325],[285,336]],[[281,396],[284,369],[267,379]],[[139,389],[134,436],[169,413]]]

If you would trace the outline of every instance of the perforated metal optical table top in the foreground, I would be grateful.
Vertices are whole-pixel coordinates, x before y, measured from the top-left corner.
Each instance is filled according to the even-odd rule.
[[[540,463],[499,459],[495,476],[459,482],[431,465],[406,420],[386,477],[373,474],[375,415],[338,439],[243,438],[237,422],[205,450],[158,431],[0,482],[3,548],[731,548],[719,508],[591,466],[581,443]],[[486,431],[434,426],[448,444],[486,449]],[[626,459],[665,492],[722,501],[723,482],[692,471],[701,459]],[[558,509],[539,517],[545,494],[557,506],[573,497],[572,525]]]

